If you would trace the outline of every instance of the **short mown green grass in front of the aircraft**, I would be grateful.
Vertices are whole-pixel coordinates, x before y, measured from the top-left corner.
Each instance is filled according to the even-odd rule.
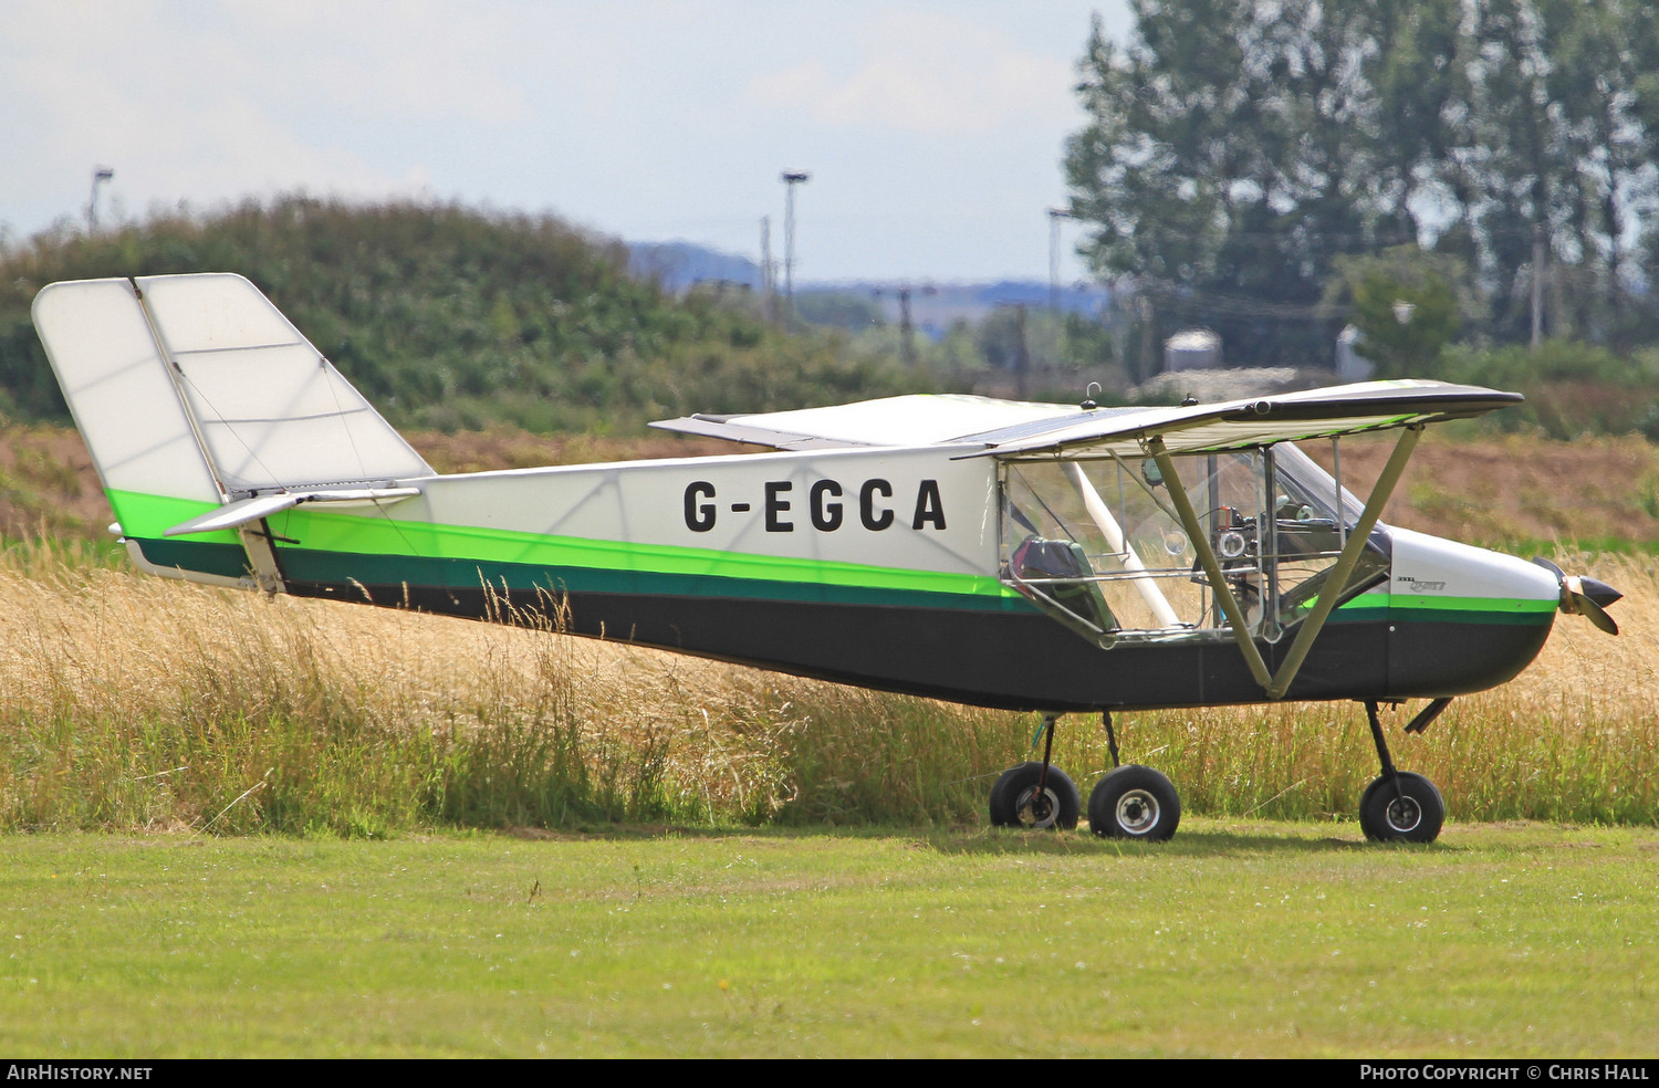
[[[30,1056],[1659,1052],[1659,829],[35,834]]]

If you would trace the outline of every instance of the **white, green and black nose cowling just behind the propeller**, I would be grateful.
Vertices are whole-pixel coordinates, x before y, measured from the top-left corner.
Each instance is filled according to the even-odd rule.
[[[1511,680],[1538,657],[1561,584],[1515,556],[1392,529],[1389,687],[1450,697]]]

